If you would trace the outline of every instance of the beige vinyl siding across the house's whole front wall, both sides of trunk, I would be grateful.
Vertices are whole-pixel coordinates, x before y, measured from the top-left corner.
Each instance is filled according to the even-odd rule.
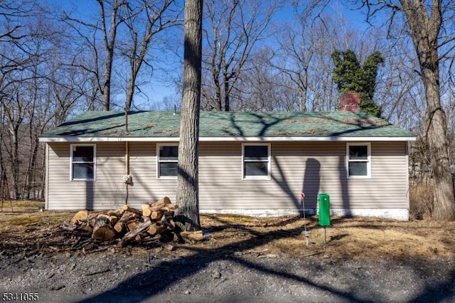
[[[257,142],[255,142],[257,143]],[[242,180],[242,142],[200,142],[200,210],[316,208],[319,193],[331,208],[407,208],[407,143],[372,142],[371,177],[348,179],[346,142],[271,144],[271,179]],[[97,180],[70,181],[70,144],[49,144],[49,209],[114,208],[126,195],[124,143],[97,143]],[[129,142],[129,204],[175,201],[176,179],[156,178],[156,143]],[[90,202],[91,201],[91,202]]]

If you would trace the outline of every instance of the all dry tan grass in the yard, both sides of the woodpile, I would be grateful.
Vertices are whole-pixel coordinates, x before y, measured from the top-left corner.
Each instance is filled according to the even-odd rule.
[[[14,212],[4,206],[0,213],[0,241],[25,243],[31,230],[39,233],[50,226],[60,225],[75,214],[39,211],[40,206],[35,202],[14,202]],[[314,217],[304,220],[301,216],[252,218],[213,215],[201,216],[201,224],[206,240],[177,245],[178,249],[170,253],[188,255],[198,251],[258,257],[320,255],[350,259],[455,257],[455,222],[332,217],[331,226],[326,228],[326,242],[324,228]],[[305,228],[310,233],[308,246],[303,233]],[[48,235],[45,239],[51,242],[51,237],[55,237],[54,243],[58,239],[62,241],[61,235]]]

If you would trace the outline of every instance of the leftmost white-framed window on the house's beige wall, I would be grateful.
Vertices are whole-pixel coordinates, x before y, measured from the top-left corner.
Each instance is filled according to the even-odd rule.
[[[71,180],[95,181],[95,144],[71,144]]]

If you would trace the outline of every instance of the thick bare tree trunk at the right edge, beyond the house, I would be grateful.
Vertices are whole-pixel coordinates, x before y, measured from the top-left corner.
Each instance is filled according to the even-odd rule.
[[[438,36],[442,20],[441,1],[433,0],[431,11],[427,11],[423,1],[400,1],[419,58],[427,97],[425,127],[434,181],[433,218],[454,220],[455,196],[449,161],[449,137],[439,87]]]

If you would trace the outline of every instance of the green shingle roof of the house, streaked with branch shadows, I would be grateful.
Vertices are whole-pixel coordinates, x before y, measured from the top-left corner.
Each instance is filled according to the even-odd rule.
[[[178,137],[173,112],[85,112],[42,134],[48,137]],[[200,112],[200,137],[414,137],[361,112]]]

